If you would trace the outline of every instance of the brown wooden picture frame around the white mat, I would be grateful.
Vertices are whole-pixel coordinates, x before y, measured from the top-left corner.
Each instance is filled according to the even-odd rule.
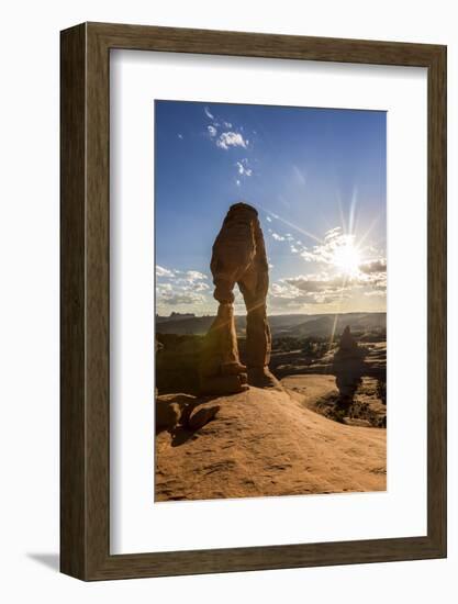
[[[446,47],[83,23],[62,32],[60,569],[82,580],[446,556]],[[141,555],[109,547],[109,56],[114,48],[427,68],[427,535]]]

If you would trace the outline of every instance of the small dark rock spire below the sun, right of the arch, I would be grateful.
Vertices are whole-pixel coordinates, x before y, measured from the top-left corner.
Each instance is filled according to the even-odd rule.
[[[364,358],[366,351],[358,346],[347,325],[340,336],[340,342],[334,355],[333,372],[340,393],[342,403],[351,403],[361,377],[365,372]]]

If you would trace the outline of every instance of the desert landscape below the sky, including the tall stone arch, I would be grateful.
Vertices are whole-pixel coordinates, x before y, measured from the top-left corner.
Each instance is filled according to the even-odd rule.
[[[233,205],[213,246],[217,314],[156,316],[156,501],[387,488],[386,314],[268,317],[261,236]]]

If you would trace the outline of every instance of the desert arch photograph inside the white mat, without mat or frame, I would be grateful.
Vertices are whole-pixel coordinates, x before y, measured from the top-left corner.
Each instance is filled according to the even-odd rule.
[[[155,502],[387,490],[387,112],[154,101]]]

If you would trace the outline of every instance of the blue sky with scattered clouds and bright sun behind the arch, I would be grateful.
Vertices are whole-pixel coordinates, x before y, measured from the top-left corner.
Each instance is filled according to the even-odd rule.
[[[259,213],[268,314],[386,311],[386,121],[155,101],[156,312],[215,314],[211,249],[238,201]]]

